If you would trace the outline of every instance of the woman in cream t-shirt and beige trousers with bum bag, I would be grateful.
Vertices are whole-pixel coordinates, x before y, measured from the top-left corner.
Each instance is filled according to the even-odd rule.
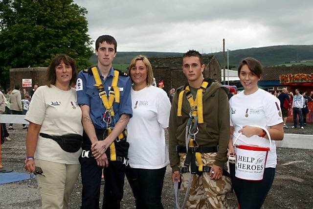
[[[38,174],[43,209],[67,209],[78,179],[82,111],[70,87],[76,77],[74,59],[65,54],[55,57],[46,71],[46,85],[32,96],[25,117],[29,121],[25,168]]]

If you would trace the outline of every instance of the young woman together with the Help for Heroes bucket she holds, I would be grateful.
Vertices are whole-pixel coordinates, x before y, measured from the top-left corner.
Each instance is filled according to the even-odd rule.
[[[284,137],[279,100],[258,88],[262,71],[262,65],[256,59],[242,60],[238,76],[245,90],[229,100],[227,155],[237,154],[236,162],[229,165],[240,209],[262,207],[273,183],[277,163],[275,142],[270,143],[270,139],[282,140]],[[262,152],[262,157],[255,157]],[[255,175],[261,175],[261,178]]]

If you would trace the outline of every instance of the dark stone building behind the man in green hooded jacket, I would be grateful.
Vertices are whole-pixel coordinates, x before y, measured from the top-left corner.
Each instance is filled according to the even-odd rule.
[[[203,55],[205,69],[203,76],[205,78],[214,78],[221,81],[221,65],[214,55]],[[181,56],[180,57],[152,57],[149,58],[152,65],[153,75],[156,83],[163,79],[164,90],[177,89],[187,83],[187,79],[182,73]]]

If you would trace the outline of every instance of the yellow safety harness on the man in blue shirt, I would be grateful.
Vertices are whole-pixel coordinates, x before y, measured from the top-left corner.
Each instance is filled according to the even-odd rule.
[[[112,132],[112,129],[113,129],[113,127],[110,126],[110,124],[112,123],[112,117],[114,118],[113,102],[114,102],[114,100],[116,103],[120,102],[120,93],[119,93],[119,88],[117,86],[119,71],[114,70],[114,77],[112,80],[112,85],[111,85],[111,89],[110,89],[110,93],[109,93],[110,95],[109,95],[109,99],[108,99],[107,93],[106,93],[104,86],[101,82],[101,78],[100,78],[97,67],[93,67],[93,68],[91,68],[91,70],[92,70],[94,80],[96,82],[96,84],[94,84],[93,86],[96,86],[98,88],[99,96],[102,99],[102,103],[103,103],[104,107],[106,108],[106,112],[105,112],[104,118],[103,118],[104,120],[105,120],[106,115],[108,114],[107,130],[108,130],[108,135],[110,135]],[[112,91],[112,88],[113,88],[113,91]],[[110,120],[110,122],[109,122],[109,120]],[[113,125],[115,125],[115,121],[114,121]],[[104,135],[105,135],[105,133],[104,133]],[[118,136],[118,139],[116,139],[117,142],[119,142],[121,139],[125,139],[126,136],[127,136],[127,132],[125,130],[124,132],[122,132]],[[115,150],[114,142],[112,142],[112,144],[110,145],[110,160],[116,161],[116,150]]]

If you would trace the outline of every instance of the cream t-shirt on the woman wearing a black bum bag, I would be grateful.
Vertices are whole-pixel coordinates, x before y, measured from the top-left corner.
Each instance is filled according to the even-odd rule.
[[[83,135],[82,111],[77,105],[76,90],[73,88],[63,91],[53,85],[51,88],[39,87],[31,99],[25,119],[41,125],[39,133]],[[34,157],[56,163],[79,164],[81,153],[82,149],[74,153],[66,152],[53,139],[38,136]]]

